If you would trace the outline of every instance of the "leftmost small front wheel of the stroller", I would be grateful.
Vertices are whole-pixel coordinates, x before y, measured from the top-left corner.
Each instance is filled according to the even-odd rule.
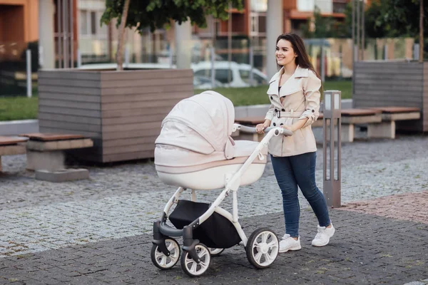
[[[170,252],[170,256],[167,257],[156,244],[153,244],[151,250],[151,259],[156,267],[162,270],[171,269],[177,264],[180,259],[180,246],[178,242],[172,237],[165,239],[165,246]]]

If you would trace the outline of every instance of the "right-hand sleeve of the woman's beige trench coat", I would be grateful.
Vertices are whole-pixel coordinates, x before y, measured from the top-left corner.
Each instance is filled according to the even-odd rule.
[[[320,115],[320,88],[321,81],[317,78],[314,72],[310,71],[309,76],[304,83],[305,93],[305,111],[300,116],[299,120],[307,118],[307,122],[302,128],[312,125]]]

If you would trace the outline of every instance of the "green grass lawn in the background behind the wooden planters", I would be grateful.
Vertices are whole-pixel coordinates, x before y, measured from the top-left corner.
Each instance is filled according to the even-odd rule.
[[[232,100],[235,106],[269,103],[266,95],[267,86],[215,88],[214,90]],[[341,90],[342,99],[352,98],[352,81],[327,81],[324,84],[324,90]],[[200,92],[202,90],[195,90],[195,94]],[[34,90],[34,94],[37,94],[36,90]],[[0,98],[0,121],[36,119],[38,100],[37,95],[34,95],[32,98]]]

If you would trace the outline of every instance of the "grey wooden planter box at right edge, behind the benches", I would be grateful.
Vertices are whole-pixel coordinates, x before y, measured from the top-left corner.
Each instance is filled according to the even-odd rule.
[[[428,131],[428,63],[360,61],[353,80],[354,108],[417,107],[421,118],[397,121],[397,130]]]

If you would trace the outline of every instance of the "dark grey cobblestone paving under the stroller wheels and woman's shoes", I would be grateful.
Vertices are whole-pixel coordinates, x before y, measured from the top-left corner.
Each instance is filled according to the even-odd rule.
[[[302,211],[302,250],[280,254],[268,269],[250,265],[243,247],[226,249],[208,271],[190,278],[179,263],[151,264],[151,235],[73,245],[0,259],[0,284],[405,284],[427,279],[428,224],[332,209],[337,232],[327,247],[310,245],[316,219]],[[282,231],[282,214],[241,221],[247,234]],[[15,283],[14,283],[15,284]]]

